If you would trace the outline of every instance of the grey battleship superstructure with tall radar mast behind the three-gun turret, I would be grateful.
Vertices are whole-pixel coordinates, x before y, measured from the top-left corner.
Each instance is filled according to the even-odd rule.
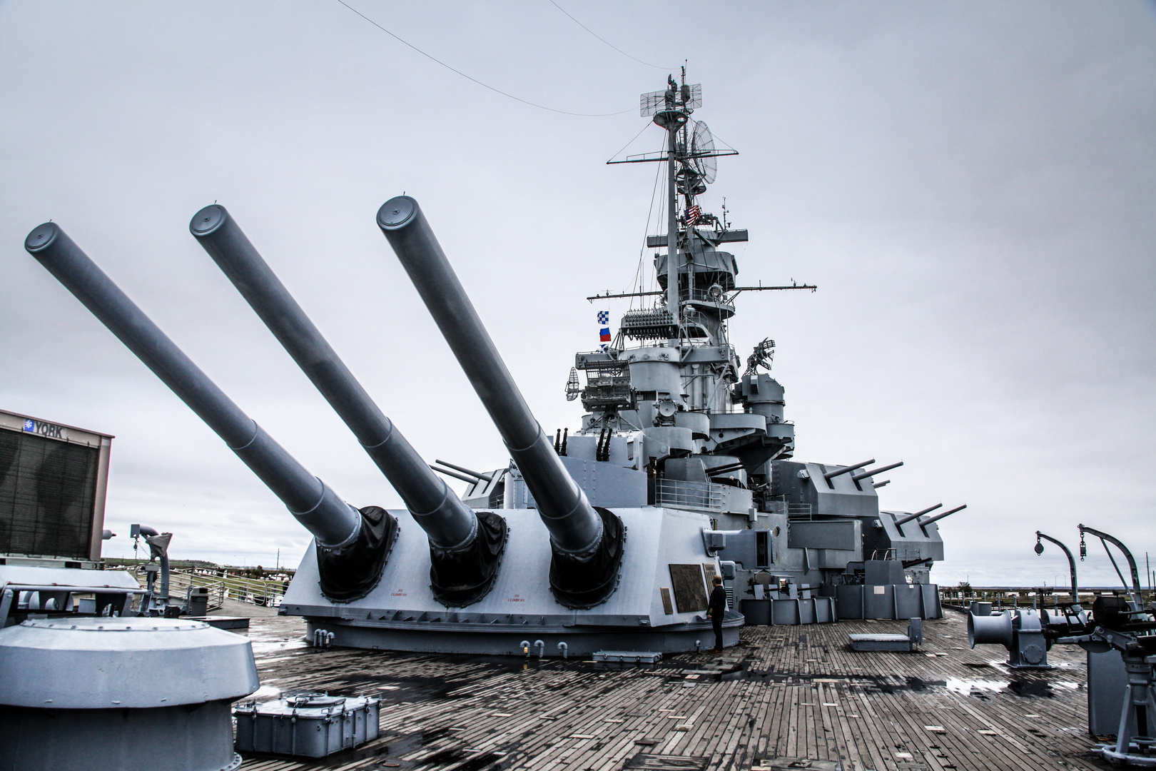
[[[881,511],[876,489],[889,480],[880,475],[903,461],[793,460],[795,427],[770,373],[775,341],[757,342],[744,359],[732,344],[740,295],[816,287],[740,283],[728,247],[748,231],[733,228],[725,208],[704,210],[702,199],[717,158],[738,151],[717,148],[706,124],[691,118],[701,105],[702,88],[684,72],[681,82],[668,79],[640,99],[642,116],[666,129],[665,149],[608,162],[666,165],[666,232],[646,240],[660,289],[587,298],[644,305],[622,313],[613,342],[576,355],[565,394],[586,414],[577,432],[556,432],[555,450],[592,503],[707,516],[717,532],[705,538],[718,547],[710,551],[734,563],[728,590],[748,616],[938,616],[929,571],[943,543],[935,520],[964,506]],[[472,481],[472,505],[535,505],[517,466],[484,480],[468,474],[459,477]]]

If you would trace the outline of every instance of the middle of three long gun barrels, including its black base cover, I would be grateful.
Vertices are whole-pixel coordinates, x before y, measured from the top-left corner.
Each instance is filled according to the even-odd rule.
[[[284,346],[394,487],[430,541],[430,584],[444,605],[486,596],[506,540],[502,517],[474,513],[354,378],[223,206],[193,215],[190,232]]]

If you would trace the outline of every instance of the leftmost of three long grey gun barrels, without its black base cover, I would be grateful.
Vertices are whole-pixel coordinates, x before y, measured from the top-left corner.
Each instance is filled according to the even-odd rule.
[[[357,540],[362,514],[245,415],[59,225],[39,225],[24,249],[224,439],[321,547]]]

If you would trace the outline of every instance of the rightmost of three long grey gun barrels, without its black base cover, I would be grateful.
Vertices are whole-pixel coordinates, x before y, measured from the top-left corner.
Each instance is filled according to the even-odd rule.
[[[551,541],[570,554],[593,551],[602,538],[601,518],[534,420],[417,201],[408,195],[386,201],[377,223],[502,435]]]

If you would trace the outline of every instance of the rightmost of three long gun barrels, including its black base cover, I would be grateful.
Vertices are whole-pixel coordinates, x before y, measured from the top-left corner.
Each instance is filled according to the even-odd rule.
[[[550,587],[571,608],[605,601],[617,585],[625,531],[593,509],[534,420],[417,201],[399,195],[377,224],[414,282],[458,363],[486,406],[550,532]]]

